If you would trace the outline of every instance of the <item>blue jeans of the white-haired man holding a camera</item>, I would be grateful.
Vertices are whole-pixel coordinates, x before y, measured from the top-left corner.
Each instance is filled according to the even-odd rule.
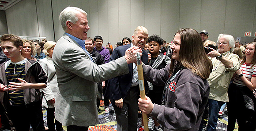
[[[216,131],[218,112],[219,112],[221,106],[225,102],[208,99],[208,103],[209,103],[209,119],[208,119],[206,131]]]

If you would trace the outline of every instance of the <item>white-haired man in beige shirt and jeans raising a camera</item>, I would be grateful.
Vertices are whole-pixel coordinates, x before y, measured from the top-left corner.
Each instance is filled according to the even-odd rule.
[[[207,131],[215,131],[220,107],[229,101],[228,87],[233,74],[240,68],[239,57],[233,54],[235,40],[232,35],[218,35],[218,51],[212,51],[207,55],[211,57],[213,69],[208,78],[210,85],[209,95],[209,119]]]

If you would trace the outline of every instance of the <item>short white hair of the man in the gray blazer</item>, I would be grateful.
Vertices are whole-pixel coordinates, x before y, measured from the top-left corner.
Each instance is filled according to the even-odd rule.
[[[63,11],[60,12],[60,23],[64,31],[67,30],[66,22],[70,21],[75,24],[78,21],[76,14],[78,13],[87,13],[78,7],[66,7]]]

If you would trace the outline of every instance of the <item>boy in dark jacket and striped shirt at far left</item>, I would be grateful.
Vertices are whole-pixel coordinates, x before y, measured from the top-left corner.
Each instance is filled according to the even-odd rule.
[[[40,89],[46,87],[47,76],[40,64],[21,55],[23,42],[17,35],[3,35],[4,54],[11,60],[0,65],[0,91],[4,106],[17,131],[45,131]]]

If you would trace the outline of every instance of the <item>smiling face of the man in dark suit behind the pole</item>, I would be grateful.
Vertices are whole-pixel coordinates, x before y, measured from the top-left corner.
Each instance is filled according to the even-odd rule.
[[[137,31],[134,35],[132,35],[132,44],[142,48],[146,43],[147,36],[148,34],[144,33],[143,30]]]

